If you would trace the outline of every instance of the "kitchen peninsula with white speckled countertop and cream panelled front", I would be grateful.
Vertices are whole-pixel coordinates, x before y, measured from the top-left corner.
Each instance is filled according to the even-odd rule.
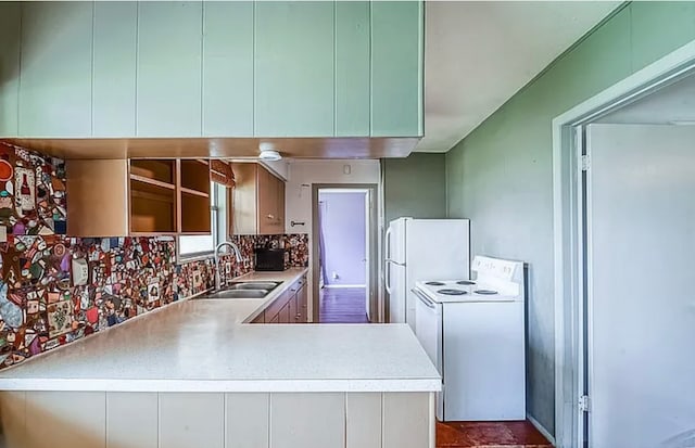
[[[4,370],[7,446],[433,447],[440,377],[407,325],[247,323],[305,272],[253,272],[241,280],[282,283],[176,302]]]

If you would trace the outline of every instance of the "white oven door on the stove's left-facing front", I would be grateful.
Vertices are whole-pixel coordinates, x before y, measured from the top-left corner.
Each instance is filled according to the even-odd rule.
[[[439,374],[442,375],[442,392],[437,394],[437,418],[443,421],[445,379],[443,377],[442,304],[433,302],[418,289],[414,289],[413,294],[418,298],[415,311],[417,338]]]

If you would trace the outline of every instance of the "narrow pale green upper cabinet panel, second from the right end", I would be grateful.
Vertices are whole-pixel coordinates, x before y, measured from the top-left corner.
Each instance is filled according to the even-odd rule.
[[[336,136],[369,137],[369,2],[336,3]]]

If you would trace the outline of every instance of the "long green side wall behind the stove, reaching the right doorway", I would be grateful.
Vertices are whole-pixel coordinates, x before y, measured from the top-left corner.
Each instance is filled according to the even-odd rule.
[[[529,263],[528,411],[554,419],[554,117],[695,39],[695,2],[634,2],[558,59],[446,154],[447,213],[473,253]]]

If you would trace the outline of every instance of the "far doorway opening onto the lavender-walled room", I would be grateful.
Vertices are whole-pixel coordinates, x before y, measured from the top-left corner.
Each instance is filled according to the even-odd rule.
[[[314,185],[314,321],[377,319],[376,185]]]

